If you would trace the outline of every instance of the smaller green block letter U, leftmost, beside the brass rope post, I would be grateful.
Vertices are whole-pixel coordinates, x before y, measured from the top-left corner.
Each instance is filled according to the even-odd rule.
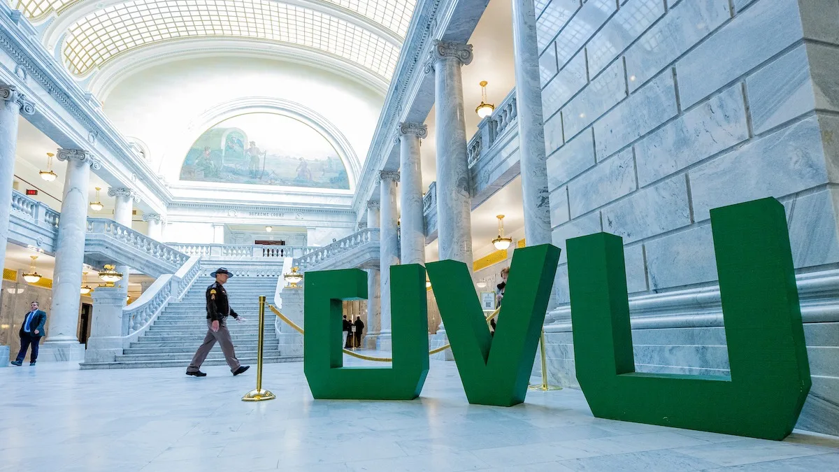
[[[420,396],[429,369],[425,270],[422,265],[393,265],[390,280],[393,366],[344,367],[341,301],[367,298],[367,273],[359,269],[306,273],[303,370],[315,398]]]

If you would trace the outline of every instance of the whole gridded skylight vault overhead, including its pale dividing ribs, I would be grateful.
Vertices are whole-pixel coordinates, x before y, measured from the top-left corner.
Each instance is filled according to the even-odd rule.
[[[185,39],[244,39],[362,67],[387,82],[416,0],[12,0],[85,77],[120,57]]]

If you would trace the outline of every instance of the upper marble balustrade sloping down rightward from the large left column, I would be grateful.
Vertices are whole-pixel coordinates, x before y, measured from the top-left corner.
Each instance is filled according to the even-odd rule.
[[[146,275],[173,274],[189,255],[113,220],[87,218],[85,260],[101,266],[124,264]]]

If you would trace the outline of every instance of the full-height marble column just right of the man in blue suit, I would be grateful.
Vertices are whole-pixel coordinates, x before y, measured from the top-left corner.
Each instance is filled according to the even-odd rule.
[[[87,193],[91,167],[99,169],[99,161],[82,149],[58,149],[58,160],[67,162],[61,218],[55,244],[52,307],[48,317],[44,354],[47,359],[81,360],[85,347],[77,337],[79,302],[81,301],[81,271],[85,260],[87,232]]]

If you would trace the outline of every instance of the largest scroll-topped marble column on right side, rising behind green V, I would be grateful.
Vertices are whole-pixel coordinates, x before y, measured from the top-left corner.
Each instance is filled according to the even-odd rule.
[[[434,72],[437,152],[437,240],[440,260],[465,262],[472,271],[472,197],[466,156],[461,66],[472,45],[435,39],[425,72]]]

